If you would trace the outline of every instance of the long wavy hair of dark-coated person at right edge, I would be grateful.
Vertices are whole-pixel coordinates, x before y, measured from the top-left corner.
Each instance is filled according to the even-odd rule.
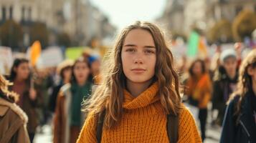
[[[230,102],[232,99],[234,99],[234,97],[240,96],[240,99],[238,100],[235,107],[234,115],[240,114],[242,100],[245,99],[245,95],[248,90],[252,88],[252,77],[248,74],[247,71],[250,66],[252,67],[252,69],[256,68],[256,49],[250,51],[250,53],[242,61],[242,64],[240,66],[237,90],[232,94],[229,99]]]

